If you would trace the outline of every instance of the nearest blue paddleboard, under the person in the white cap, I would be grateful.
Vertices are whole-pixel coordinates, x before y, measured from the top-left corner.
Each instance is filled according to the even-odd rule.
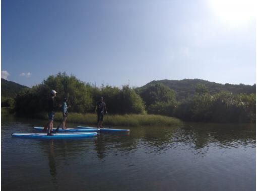
[[[96,132],[85,133],[55,133],[48,136],[46,133],[13,133],[12,136],[27,139],[75,139],[96,136]]]

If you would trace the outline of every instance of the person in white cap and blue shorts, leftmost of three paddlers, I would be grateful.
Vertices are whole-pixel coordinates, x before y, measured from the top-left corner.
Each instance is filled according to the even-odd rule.
[[[55,114],[56,107],[56,97],[57,92],[55,90],[51,90],[50,98],[48,100],[48,124],[47,124],[47,135],[52,136],[52,127],[53,127],[53,118]]]

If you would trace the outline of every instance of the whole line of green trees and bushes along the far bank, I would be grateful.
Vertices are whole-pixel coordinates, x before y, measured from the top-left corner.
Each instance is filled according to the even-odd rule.
[[[16,113],[33,116],[47,111],[52,89],[58,92],[58,103],[64,97],[69,98],[72,106],[69,112],[93,113],[102,96],[109,114],[157,114],[197,122],[255,122],[255,93],[211,93],[205,84],[196,84],[194,96],[178,100],[176,91],[161,83],[144,88],[96,87],[65,72],[51,75],[19,93],[15,98]]]

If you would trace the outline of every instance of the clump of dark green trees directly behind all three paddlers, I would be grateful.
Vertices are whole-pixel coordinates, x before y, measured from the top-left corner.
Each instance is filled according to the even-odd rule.
[[[16,97],[16,111],[19,115],[33,116],[35,113],[47,111],[50,91],[56,90],[56,101],[62,104],[63,98],[68,97],[70,112],[94,112],[95,103],[103,96],[108,111],[113,114],[143,114],[144,104],[134,88],[123,86],[122,89],[111,86],[101,88],[78,80],[75,76],[58,73],[49,76],[42,84],[33,86]]]

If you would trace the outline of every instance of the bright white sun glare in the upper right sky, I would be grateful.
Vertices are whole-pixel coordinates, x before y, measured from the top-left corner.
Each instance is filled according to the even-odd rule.
[[[256,0],[210,0],[215,14],[226,24],[246,24],[255,17]]]

